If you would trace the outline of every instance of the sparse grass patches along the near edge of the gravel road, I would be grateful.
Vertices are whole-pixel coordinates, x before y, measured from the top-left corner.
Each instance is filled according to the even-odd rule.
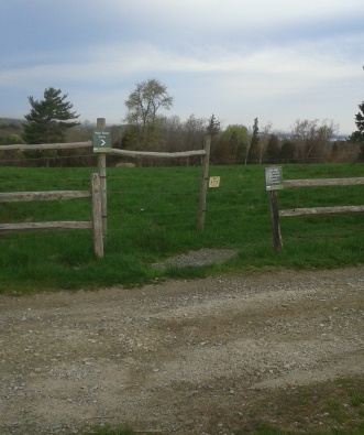
[[[254,391],[229,407],[209,403],[199,410],[209,435],[363,435],[364,382],[343,378],[312,385]],[[106,423],[80,435],[137,435],[140,431]],[[143,432],[148,434],[148,432]],[[169,435],[166,432],[161,434]],[[172,435],[172,434],[170,434]]]

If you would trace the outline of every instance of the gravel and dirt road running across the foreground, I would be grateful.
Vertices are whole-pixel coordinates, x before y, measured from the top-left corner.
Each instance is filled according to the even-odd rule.
[[[0,307],[1,434],[102,422],[205,434],[217,406],[364,374],[364,268],[2,296]]]

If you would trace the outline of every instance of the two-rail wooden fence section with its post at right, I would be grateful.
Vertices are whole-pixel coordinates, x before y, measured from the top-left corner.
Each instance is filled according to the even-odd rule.
[[[283,181],[283,188],[290,187],[324,187],[324,186],[353,186],[364,184],[364,178],[320,178],[320,180],[287,180]],[[276,251],[283,249],[283,241],[279,227],[279,217],[296,217],[308,215],[341,215],[364,213],[364,205],[360,206],[335,206],[335,207],[311,207],[311,208],[291,208],[279,210],[279,188],[271,189],[271,227],[273,247]]]

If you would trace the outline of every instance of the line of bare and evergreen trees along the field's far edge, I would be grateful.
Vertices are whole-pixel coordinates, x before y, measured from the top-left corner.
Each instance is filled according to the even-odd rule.
[[[53,87],[45,89],[42,100],[29,97],[31,110],[24,117],[25,122],[21,126],[21,132],[18,126],[16,131],[0,135],[0,145],[62,143],[91,139],[91,126],[89,122],[80,124],[79,115],[74,110],[73,104],[67,101],[67,94]],[[112,146],[133,151],[199,150],[209,133],[212,137],[212,164],[364,161],[364,102],[359,105],[360,112],[355,116],[357,130],[348,141],[334,141],[339,128],[332,120],[296,120],[290,132],[285,134],[274,132],[271,122],[260,127],[258,118],[254,119],[252,128],[230,124],[221,129],[213,115],[209,119],[191,115],[183,121],[178,116],[167,117],[161,113],[170,110],[173,101],[167,87],[157,79],[137,83],[124,101],[126,115],[121,120],[122,124],[110,128]],[[76,155],[69,155],[70,153]],[[45,159],[52,166],[89,165],[92,163],[91,153],[91,150],[82,150],[81,155],[78,151],[67,151],[67,155],[62,151],[25,151],[20,155],[20,153],[0,151],[0,160],[2,164],[33,162],[35,165],[41,164],[40,159]],[[143,164],[151,162],[144,161]]]

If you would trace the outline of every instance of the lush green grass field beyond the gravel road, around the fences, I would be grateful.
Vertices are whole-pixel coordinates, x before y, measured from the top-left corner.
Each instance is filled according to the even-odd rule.
[[[363,164],[285,165],[284,177],[362,176]],[[96,168],[2,167],[0,191],[88,189]],[[219,188],[207,197],[205,230],[196,228],[199,167],[108,168],[106,255],[95,258],[88,230],[12,232],[0,238],[0,293],[141,285],[164,278],[265,268],[338,268],[364,263],[361,215],[282,218],[284,250],[274,252],[264,166],[211,166]],[[280,208],[359,205],[363,187],[285,189]],[[89,220],[87,198],[1,203],[0,222]],[[151,264],[201,248],[239,254],[222,265],[169,268]]]

